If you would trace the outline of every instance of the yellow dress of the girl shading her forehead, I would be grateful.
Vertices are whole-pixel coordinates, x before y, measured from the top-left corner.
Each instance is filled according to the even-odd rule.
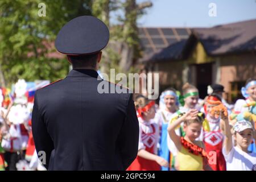
[[[183,146],[181,146],[181,151],[177,154],[177,161],[179,163],[179,171],[203,170],[203,157],[201,155],[192,154]]]

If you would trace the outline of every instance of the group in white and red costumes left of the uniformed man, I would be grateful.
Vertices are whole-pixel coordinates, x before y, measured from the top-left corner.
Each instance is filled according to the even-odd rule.
[[[35,90],[47,84],[20,79],[12,89],[0,89],[0,171],[46,170],[36,154],[31,115]]]

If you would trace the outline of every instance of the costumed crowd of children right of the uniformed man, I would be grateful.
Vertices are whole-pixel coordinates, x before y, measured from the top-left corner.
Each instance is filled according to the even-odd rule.
[[[181,96],[166,89],[158,106],[138,96],[138,156],[127,170],[255,171],[256,80],[247,80],[245,99],[233,106],[222,98],[222,85],[208,90],[199,101],[191,84],[183,85]]]

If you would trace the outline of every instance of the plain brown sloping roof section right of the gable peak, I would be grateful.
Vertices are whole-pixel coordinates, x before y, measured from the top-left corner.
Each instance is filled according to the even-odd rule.
[[[208,55],[256,51],[256,19],[212,28],[194,28],[193,34]]]

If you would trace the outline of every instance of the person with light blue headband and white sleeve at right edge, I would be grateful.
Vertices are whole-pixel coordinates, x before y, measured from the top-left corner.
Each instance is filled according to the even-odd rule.
[[[242,87],[241,89],[243,97],[245,97],[245,100],[237,100],[236,104],[234,105],[234,114],[240,114],[245,111],[250,111],[252,106],[244,107],[244,105],[250,104],[250,102],[256,101],[256,80],[249,78],[246,81],[245,87]],[[256,129],[256,126],[254,126],[254,129]],[[249,150],[256,152],[256,141],[253,140],[252,143],[249,146]]]

